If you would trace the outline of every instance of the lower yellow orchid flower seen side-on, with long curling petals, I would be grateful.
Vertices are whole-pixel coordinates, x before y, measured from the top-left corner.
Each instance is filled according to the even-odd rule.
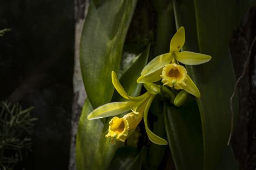
[[[129,137],[136,129],[140,121],[142,121],[142,118],[144,118],[145,129],[149,139],[155,144],[167,145],[167,141],[165,139],[158,137],[147,126],[147,114],[149,112],[150,105],[154,97],[160,93],[158,86],[153,83],[144,84],[145,88],[149,89],[149,91],[143,95],[132,97],[127,95],[114,72],[112,72],[112,83],[118,93],[128,101],[104,104],[93,110],[87,116],[87,119],[91,120],[115,116],[109,122],[109,132],[106,134],[106,137],[125,141],[126,138]],[[127,111],[131,112],[122,118],[116,117],[116,115],[123,114]]]

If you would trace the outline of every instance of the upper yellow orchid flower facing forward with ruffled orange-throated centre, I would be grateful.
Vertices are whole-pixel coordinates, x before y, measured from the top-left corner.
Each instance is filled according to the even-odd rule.
[[[200,65],[211,60],[210,55],[182,51],[180,49],[185,44],[185,30],[181,26],[174,34],[170,42],[170,52],[161,54],[150,61],[140,73],[137,83],[149,83],[162,80],[164,85],[175,89],[184,89],[196,97],[200,97],[200,92],[187,75],[185,67],[179,65]]]

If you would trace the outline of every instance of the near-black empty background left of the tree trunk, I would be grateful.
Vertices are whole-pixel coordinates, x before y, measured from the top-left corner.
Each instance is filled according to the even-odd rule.
[[[0,1],[0,100],[34,106],[25,169],[68,169],[75,16],[73,0]],[[19,168],[18,168],[19,169]]]

